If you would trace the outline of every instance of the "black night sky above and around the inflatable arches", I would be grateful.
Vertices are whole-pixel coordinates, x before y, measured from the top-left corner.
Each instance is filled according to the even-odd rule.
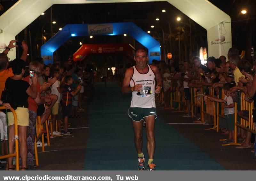
[[[11,7],[17,0],[2,2],[5,11]],[[255,0],[210,0],[210,2],[222,11],[226,12],[231,21],[244,20],[256,17],[256,12],[252,7],[256,6]],[[247,8],[248,13],[242,15],[240,13],[242,8]],[[165,9],[166,12],[162,13],[161,10]],[[66,24],[74,23],[111,23],[111,22],[124,22],[132,21],[139,25],[145,31],[150,30],[150,25],[161,26],[165,32],[168,33],[169,26],[164,21],[156,23],[155,18],[166,19],[171,24],[172,33],[177,31],[176,17],[180,16],[184,23],[188,23],[189,18],[180,12],[177,8],[169,4],[168,2],[144,2],[144,3],[113,3],[113,4],[58,4],[52,6],[53,20],[57,23],[53,25],[53,32],[57,33],[60,27]],[[1,12],[3,13],[3,12]],[[0,14],[1,14],[0,13]],[[32,44],[37,44],[41,39],[41,28],[45,22],[50,22],[50,9],[45,11],[44,16],[38,17],[29,26],[31,30],[31,37],[33,39]],[[252,28],[252,32],[255,30],[255,19],[247,21],[239,21],[232,23],[232,42],[233,45],[240,49],[245,48],[246,34],[248,24]],[[192,32],[197,33],[202,38],[199,41],[200,46],[207,46],[206,30],[195,22],[193,22]],[[45,26],[45,35],[50,35],[50,26]],[[157,31],[156,29],[154,31]],[[161,36],[160,31],[159,36]],[[24,33],[19,34],[19,39],[24,37]],[[62,49],[67,49],[72,53],[79,48],[79,41],[82,41],[84,37],[76,37],[69,40]],[[176,38],[173,36],[173,38]],[[124,41],[123,37],[115,37],[110,39],[109,37],[97,37],[93,41],[88,43],[120,43]],[[131,43],[131,40],[125,40],[126,43]],[[252,35],[252,45],[255,44],[255,36]],[[61,49],[60,48],[60,49]]]

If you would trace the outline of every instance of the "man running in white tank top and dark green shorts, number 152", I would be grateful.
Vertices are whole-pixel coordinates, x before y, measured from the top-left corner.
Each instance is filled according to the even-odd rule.
[[[157,118],[155,93],[161,92],[163,84],[158,68],[148,65],[147,59],[148,52],[146,49],[140,48],[135,50],[134,60],[136,61],[136,66],[126,70],[122,86],[122,93],[132,92],[131,107],[128,110],[128,115],[132,118],[139,170],[145,169],[145,158],[142,153],[142,123],[144,120],[146,121],[148,139],[148,170],[156,169],[153,161],[156,146],[154,128],[155,119]]]

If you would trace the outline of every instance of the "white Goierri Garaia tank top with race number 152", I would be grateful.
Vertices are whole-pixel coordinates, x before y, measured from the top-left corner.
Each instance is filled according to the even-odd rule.
[[[148,73],[141,74],[135,66],[133,66],[133,75],[130,81],[130,86],[134,87],[136,84],[143,86],[140,92],[132,92],[131,107],[151,108],[156,107],[155,103],[155,74],[151,67],[148,66]]]

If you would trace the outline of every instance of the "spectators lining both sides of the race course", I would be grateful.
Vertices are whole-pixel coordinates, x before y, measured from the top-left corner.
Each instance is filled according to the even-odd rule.
[[[87,98],[87,92],[92,91],[93,81],[100,79],[105,82],[111,79],[111,73],[107,67],[103,67],[101,74],[98,71],[88,71],[84,62],[74,62],[68,59],[65,63],[56,61],[54,64],[44,65],[42,58],[27,61],[28,45],[23,41],[23,53],[20,58],[8,61],[8,51],[16,47],[15,40],[3,53],[0,54],[0,104],[7,108],[15,109],[18,121],[18,133],[20,143],[20,169],[26,170],[34,167],[34,142],[36,133],[36,119],[40,116],[41,124],[44,124],[51,116],[53,131],[51,136],[72,135],[68,130],[70,118],[79,117],[78,112],[84,111],[81,102]],[[246,101],[254,101],[256,106],[256,63],[241,60],[236,48],[228,51],[228,61],[225,56],[219,58],[209,57],[206,66],[201,64],[199,57],[182,62],[172,61],[169,65],[164,61],[153,61],[163,77],[163,101],[159,103],[165,109],[170,108],[170,93],[179,91],[185,98],[184,110],[191,115],[191,92],[190,87],[195,87],[198,94],[207,96],[208,88],[214,89],[214,97],[211,101],[223,103],[225,123],[223,134],[227,135],[225,143],[234,143],[237,136],[241,141],[238,149],[253,148],[251,142],[252,133],[242,128],[234,135],[235,110],[237,91],[244,92]],[[91,69],[90,69],[91,70]],[[122,80],[125,72],[124,67],[116,69],[116,81]],[[114,77],[114,76],[113,76]],[[201,87],[204,87],[203,92]],[[225,98],[217,97],[221,89],[224,89]],[[164,103],[164,104],[163,104]],[[14,153],[15,132],[14,117],[12,112],[0,112],[1,145],[2,155],[7,154],[7,140],[9,141],[9,153]],[[196,118],[201,119],[198,109],[193,110]],[[249,111],[241,110],[238,116],[248,120]],[[7,138],[7,125],[9,139]],[[212,117],[205,115],[204,124],[212,124]],[[57,122],[57,127],[55,126]],[[61,122],[63,130],[61,130]],[[42,130],[44,131],[44,130]],[[40,140],[37,146],[42,146]],[[45,145],[46,146],[46,145]],[[2,160],[3,161],[3,160]],[[13,158],[7,158],[7,170],[14,170]]]

